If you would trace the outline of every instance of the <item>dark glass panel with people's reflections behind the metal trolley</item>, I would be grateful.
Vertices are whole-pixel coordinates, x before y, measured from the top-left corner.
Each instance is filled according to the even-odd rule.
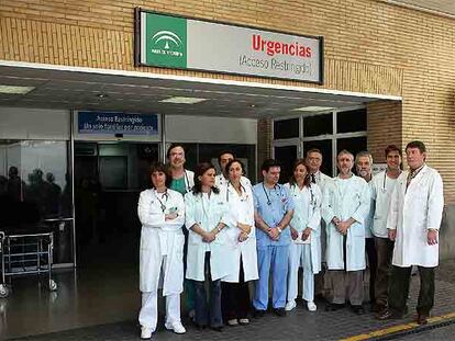
[[[75,260],[70,148],[68,141],[0,140],[0,229],[54,230],[54,265]]]

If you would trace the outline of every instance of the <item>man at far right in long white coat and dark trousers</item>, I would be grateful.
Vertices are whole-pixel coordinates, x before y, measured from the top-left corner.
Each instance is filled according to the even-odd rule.
[[[420,292],[417,322],[425,325],[434,304],[434,268],[439,264],[437,237],[444,208],[443,181],[425,164],[422,141],[406,147],[409,170],[401,173],[393,189],[387,219],[389,238],[395,240],[389,286],[389,308],[379,319],[404,315],[412,265],[418,265]]]

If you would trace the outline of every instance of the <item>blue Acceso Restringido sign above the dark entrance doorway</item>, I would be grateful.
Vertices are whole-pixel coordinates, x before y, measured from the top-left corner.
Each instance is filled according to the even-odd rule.
[[[79,134],[158,135],[158,115],[78,112]]]

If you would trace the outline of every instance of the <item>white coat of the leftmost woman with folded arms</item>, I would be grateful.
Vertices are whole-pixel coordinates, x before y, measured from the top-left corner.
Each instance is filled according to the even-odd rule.
[[[162,209],[162,201],[165,212]],[[171,211],[178,217],[165,221]],[[184,291],[184,243],[181,226],[185,223],[185,203],[180,193],[167,190],[166,195],[156,190],[141,192],[137,215],[142,223],[140,250],[140,289],[156,292],[162,273],[162,260],[166,255],[163,271],[163,295],[180,294]]]

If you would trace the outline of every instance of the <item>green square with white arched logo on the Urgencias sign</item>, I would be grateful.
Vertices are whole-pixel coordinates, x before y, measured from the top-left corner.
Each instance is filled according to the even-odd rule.
[[[145,18],[146,64],[186,68],[187,20],[153,13]]]

